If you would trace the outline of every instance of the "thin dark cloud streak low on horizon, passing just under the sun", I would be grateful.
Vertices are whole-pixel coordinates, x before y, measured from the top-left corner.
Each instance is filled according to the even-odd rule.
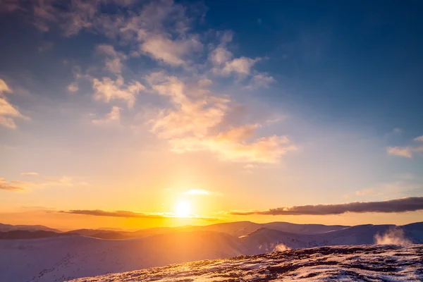
[[[154,214],[144,212],[129,212],[129,211],[104,211],[102,209],[72,209],[70,211],[60,211],[63,214],[85,214],[89,216],[113,216],[113,217],[125,217],[125,218],[137,218],[137,219],[171,219],[175,218],[173,214]],[[209,217],[198,217],[191,216],[183,219],[200,219],[204,221],[219,221],[219,219]]]

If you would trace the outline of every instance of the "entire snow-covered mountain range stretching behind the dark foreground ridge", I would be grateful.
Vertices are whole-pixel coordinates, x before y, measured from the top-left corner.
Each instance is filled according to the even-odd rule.
[[[286,232],[287,229],[298,233]],[[0,238],[1,234],[10,232],[21,232],[25,236],[49,233],[8,231],[0,233]],[[124,240],[88,237],[99,233],[110,234],[112,239],[122,236]],[[242,221],[136,232],[84,229],[51,232],[49,236],[51,238],[0,240],[0,281],[64,281],[166,264],[326,245],[423,243],[423,223],[325,227]]]

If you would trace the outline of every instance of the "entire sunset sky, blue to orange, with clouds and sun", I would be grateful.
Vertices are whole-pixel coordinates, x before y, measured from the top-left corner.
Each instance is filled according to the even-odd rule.
[[[3,1],[0,222],[423,218],[420,1]]]

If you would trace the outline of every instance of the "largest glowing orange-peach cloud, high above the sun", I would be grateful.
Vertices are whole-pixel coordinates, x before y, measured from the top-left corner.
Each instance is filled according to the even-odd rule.
[[[259,124],[231,125],[231,100],[187,85],[182,80],[153,73],[147,81],[153,92],[168,97],[172,107],[149,120],[152,133],[168,140],[177,153],[209,151],[224,161],[277,163],[283,154],[297,149],[286,136],[257,137]]]

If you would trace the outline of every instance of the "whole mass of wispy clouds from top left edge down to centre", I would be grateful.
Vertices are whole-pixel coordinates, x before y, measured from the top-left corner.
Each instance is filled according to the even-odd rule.
[[[18,6],[23,4],[17,0]],[[172,0],[146,1],[131,6],[130,1],[112,0],[72,1],[70,6],[47,2],[31,3],[37,12],[27,15],[39,30],[47,32],[51,25],[59,25],[63,35],[77,35],[81,30],[102,34],[110,39],[97,45],[94,53],[104,58],[109,76],[101,77],[87,71],[76,79],[92,83],[96,101],[123,102],[135,109],[139,94],[158,94],[166,106],[148,106],[147,124],[158,138],[166,140],[172,152],[212,152],[222,161],[277,164],[281,157],[295,151],[297,146],[286,135],[259,134],[266,123],[249,121],[230,122],[236,102],[231,94],[212,90],[221,76],[233,77],[233,83],[255,89],[269,87],[275,80],[268,73],[260,73],[255,64],[264,58],[238,56],[229,51],[232,32],[210,30],[207,36],[196,33],[192,27],[202,17],[197,6],[179,4]],[[114,16],[104,13],[107,5],[124,6]],[[27,5],[28,6],[28,5]],[[27,13],[27,6],[16,13]],[[131,6],[130,9],[127,9]],[[128,10],[128,11],[127,11]],[[147,56],[161,71],[144,77],[147,87],[138,80],[124,78],[123,61],[135,56]],[[176,67],[183,69],[176,75],[167,75]],[[172,73],[175,73],[172,71]],[[78,82],[68,85],[69,92],[78,92]],[[113,106],[104,118],[92,123],[118,121],[123,109]],[[245,118],[247,119],[247,118]]]

